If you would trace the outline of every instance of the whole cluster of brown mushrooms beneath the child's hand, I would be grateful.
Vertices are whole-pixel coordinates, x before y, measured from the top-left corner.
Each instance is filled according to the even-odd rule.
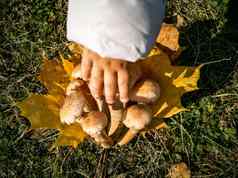
[[[62,123],[79,123],[83,131],[103,148],[127,144],[148,127],[152,120],[151,105],[159,99],[160,87],[152,79],[141,78],[139,66],[129,70],[134,81],[129,85],[130,102],[127,106],[119,100],[113,105],[94,100],[88,84],[80,79],[77,68],[72,72],[60,109]],[[128,129],[121,134],[125,128]]]

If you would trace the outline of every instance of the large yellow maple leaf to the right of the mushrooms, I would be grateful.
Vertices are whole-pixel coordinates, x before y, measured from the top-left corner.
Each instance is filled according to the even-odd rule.
[[[181,67],[171,65],[167,54],[157,49],[156,55],[140,61],[144,74],[156,80],[161,88],[160,99],[152,105],[156,118],[169,118],[181,111],[186,111],[181,104],[181,97],[186,92],[197,90],[200,78],[199,67]],[[157,123],[158,124],[155,124]],[[160,128],[160,121],[154,121],[152,127]]]

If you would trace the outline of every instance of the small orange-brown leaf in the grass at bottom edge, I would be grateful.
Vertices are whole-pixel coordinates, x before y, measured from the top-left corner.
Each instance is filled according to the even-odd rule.
[[[178,163],[169,169],[169,178],[190,178],[191,171],[185,163]]]

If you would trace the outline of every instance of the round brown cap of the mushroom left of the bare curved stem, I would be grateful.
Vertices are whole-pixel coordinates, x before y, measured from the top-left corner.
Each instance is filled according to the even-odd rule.
[[[107,126],[107,116],[103,112],[93,111],[79,120],[83,130],[90,136],[100,134]]]

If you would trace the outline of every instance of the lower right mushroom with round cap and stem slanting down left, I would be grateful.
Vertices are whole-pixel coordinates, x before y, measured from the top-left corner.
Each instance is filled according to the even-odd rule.
[[[128,107],[123,124],[129,128],[123,138],[118,142],[119,145],[129,143],[135,135],[145,129],[151,122],[152,112],[150,108],[143,104]]]

